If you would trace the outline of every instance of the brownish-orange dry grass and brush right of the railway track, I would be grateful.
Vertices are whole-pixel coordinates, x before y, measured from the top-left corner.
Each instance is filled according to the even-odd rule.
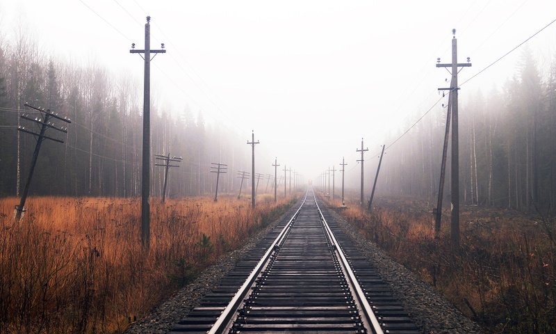
[[[373,214],[354,202],[342,212],[489,333],[556,332],[555,219],[462,207],[461,248],[453,250],[448,211],[435,240],[426,202],[383,198],[376,204]]]

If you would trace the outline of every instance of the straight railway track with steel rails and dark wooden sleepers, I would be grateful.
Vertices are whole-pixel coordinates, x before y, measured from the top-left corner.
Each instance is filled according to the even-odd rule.
[[[420,333],[311,190],[171,333],[184,332]]]

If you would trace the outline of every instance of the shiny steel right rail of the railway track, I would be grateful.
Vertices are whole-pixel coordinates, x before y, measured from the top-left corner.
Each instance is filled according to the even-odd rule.
[[[363,292],[361,285],[359,285],[359,282],[357,281],[357,278],[355,277],[355,274],[353,273],[353,270],[349,262],[347,262],[347,259],[345,258],[345,255],[340,248],[340,244],[338,244],[338,241],[336,240],[336,237],[334,237],[334,233],[332,232],[332,229],[328,225],[325,216],[322,214],[322,211],[318,206],[316,196],[314,196],[314,198],[315,198],[315,204],[318,209],[318,214],[320,215],[320,219],[322,220],[322,223],[325,225],[325,230],[327,231],[329,238],[332,240],[332,244],[334,245],[336,256],[339,258],[340,263],[342,265],[342,270],[347,274],[346,278],[348,278],[347,281],[348,283],[350,283],[350,289],[352,290],[352,294],[356,297],[356,301],[359,306],[359,312],[362,313],[363,315],[363,317],[361,317],[361,319],[364,319],[363,324],[365,325],[365,327],[369,327],[366,329],[367,331],[370,331],[370,333],[384,334],[384,331],[382,331],[382,327],[380,326],[380,323],[377,317],[375,316],[375,312],[373,312],[373,308],[371,308],[369,302],[367,301],[365,292]]]

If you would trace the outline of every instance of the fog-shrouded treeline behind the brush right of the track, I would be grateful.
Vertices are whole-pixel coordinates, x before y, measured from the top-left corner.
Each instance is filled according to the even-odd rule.
[[[500,88],[460,90],[460,200],[554,214],[556,58],[541,71],[525,49],[515,68]],[[417,196],[436,206],[445,119],[445,108],[430,113],[387,150],[380,192]],[[450,146],[444,194],[444,207],[450,208]]]

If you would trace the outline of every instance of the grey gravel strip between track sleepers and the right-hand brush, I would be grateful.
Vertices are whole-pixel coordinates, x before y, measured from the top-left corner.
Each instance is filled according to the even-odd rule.
[[[409,312],[411,319],[426,334],[484,333],[475,321],[463,315],[434,287],[417,278],[402,264],[395,262],[375,243],[365,239],[334,209],[327,208],[338,226],[374,264],[382,279],[390,285],[396,298]]]

